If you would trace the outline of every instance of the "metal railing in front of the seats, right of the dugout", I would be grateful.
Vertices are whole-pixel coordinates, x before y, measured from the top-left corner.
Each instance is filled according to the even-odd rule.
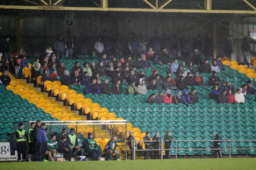
[[[176,155],[175,155],[175,158],[177,159],[178,158],[178,154],[179,154],[179,151],[180,150],[211,150],[211,151],[214,151],[214,150],[229,150],[229,158],[232,158],[232,150],[256,150],[256,148],[232,148],[231,146],[231,143],[234,141],[234,142],[241,142],[241,141],[245,141],[245,142],[256,142],[255,139],[252,139],[252,140],[219,140],[220,142],[229,142],[229,148],[203,148],[203,145],[201,146],[201,148],[177,148],[177,142],[214,142],[214,141],[217,141],[217,140],[174,140],[172,142],[175,142],[175,148],[170,148],[170,149],[165,149],[163,148],[163,142],[168,142],[168,141],[164,141],[164,140],[160,140],[160,141],[129,141],[129,142],[133,142],[133,146],[136,146],[136,147],[133,147],[133,150],[127,150],[127,147],[126,147],[126,150],[127,151],[132,151],[133,152],[133,160],[135,160],[135,155],[136,155],[136,152],[141,152],[141,151],[159,151],[160,152],[160,159],[163,159],[163,151],[172,151],[172,150],[175,150],[176,151]],[[159,149],[150,149],[150,150],[146,150],[146,149],[138,149],[138,143],[141,143],[141,142],[159,142]],[[194,153],[195,154],[195,153]],[[196,154],[195,154],[196,155]],[[212,154],[209,154],[209,155],[212,155]],[[228,155],[228,154],[226,154]],[[181,156],[184,156],[184,155],[181,155]]]

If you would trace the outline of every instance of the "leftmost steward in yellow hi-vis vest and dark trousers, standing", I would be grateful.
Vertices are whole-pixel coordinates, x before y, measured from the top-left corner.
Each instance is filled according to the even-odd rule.
[[[18,151],[18,162],[26,162],[26,142],[27,142],[27,133],[24,130],[24,125],[19,123],[19,128],[15,131],[16,141],[17,141],[17,151]],[[21,159],[22,155],[22,159]]]

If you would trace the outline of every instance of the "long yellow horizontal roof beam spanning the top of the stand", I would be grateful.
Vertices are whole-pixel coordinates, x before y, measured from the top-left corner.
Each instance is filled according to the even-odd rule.
[[[98,8],[98,7],[67,7],[67,6],[15,6],[0,5],[2,9],[17,10],[64,10],[64,11],[120,11],[120,12],[177,12],[177,13],[208,13],[208,14],[256,14],[246,10],[188,10],[188,9],[152,9],[152,8]]]

